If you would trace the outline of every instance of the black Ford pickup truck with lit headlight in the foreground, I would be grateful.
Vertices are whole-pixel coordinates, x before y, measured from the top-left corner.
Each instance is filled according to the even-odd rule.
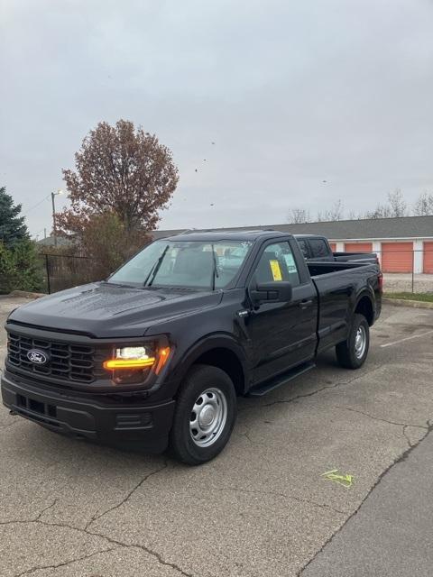
[[[230,437],[236,395],[330,347],[360,367],[381,297],[377,265],[307,263],[288,234],[173,236],[106,281],[15,309],[3,401],[52,431],[204,463]]]

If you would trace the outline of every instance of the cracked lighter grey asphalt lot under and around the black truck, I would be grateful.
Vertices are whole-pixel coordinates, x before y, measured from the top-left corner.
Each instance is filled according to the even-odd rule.
[[[0,299],[2,325],[17,302]],[[285,388],[240,399],[230,444],[198,468],[63,438],[1,408],[0,575],[307,575],[428,435],[432,344],[433,310],[384,307],[363,369],[329,352]],[[334,469],[352,487],[321,476]]]

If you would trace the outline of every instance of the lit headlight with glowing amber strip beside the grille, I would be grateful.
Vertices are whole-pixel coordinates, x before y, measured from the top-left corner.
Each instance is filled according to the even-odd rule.
[[[111,371],[115,384],[144,384],[148,378],[151,379],[151,373],[160,373],[169,358],[170,347],[146,343],[142,346],[115,348],[113,353],[113,358],[104,361],[103,366],[106,371]]]

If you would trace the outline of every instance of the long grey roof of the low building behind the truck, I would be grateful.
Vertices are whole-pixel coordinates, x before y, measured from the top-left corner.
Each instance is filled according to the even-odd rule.
[[[331,241],[366,239],[433,238],[433,215],[401,216],[400,218],[365,218],[303,224],[266,224],[260,226],[232,226],[215,231],[275,230],[289,234],[322,234]],[[194,229],[195,233],[209,229]],[[153,239],[187,232],[185,229],[153,231]],[[192,231],[188,231],[192,232]]]

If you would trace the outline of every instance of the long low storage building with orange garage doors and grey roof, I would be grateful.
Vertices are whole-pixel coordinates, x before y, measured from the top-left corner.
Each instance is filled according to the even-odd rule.
[[[433,215],[340,220],[327,223],[234,226],[230,229],[273,229],[290,234],[321,234],[335,252],[377,252],[383,272],[433,274]],[[203,229],[197,228],[197,231]],[[184,230],[154,231],[163,238]]]

